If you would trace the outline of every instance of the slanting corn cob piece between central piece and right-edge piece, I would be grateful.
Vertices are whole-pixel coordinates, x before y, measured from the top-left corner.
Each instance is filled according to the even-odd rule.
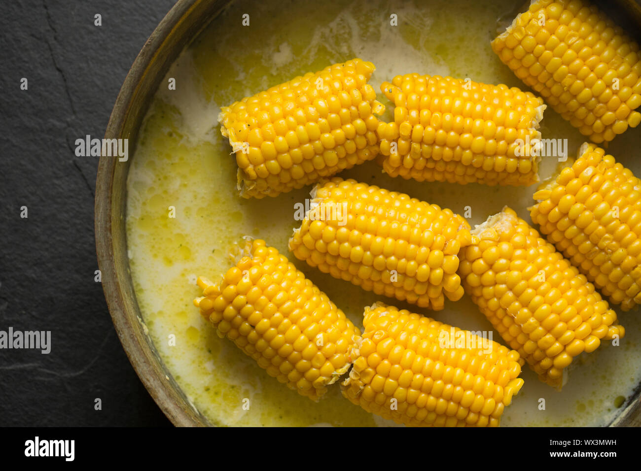
[[[465,291],[541,381],[560,389],[574,357],[624,336],[594,285],[507,206],[472,238],[461,251]]]

